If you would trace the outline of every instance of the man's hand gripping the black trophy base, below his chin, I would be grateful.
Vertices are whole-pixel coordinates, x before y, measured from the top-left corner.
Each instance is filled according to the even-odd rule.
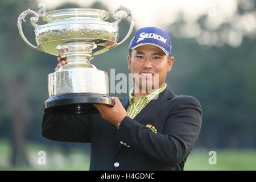
[[[106,119],[113,125],[117,126],[118,123],[121,123],[123,118],[126,117],[127,113],[122,103],[117,97],[112,97],[115,101],[114,107],[105,106],[102,104],[93,104],[98,111],[101,113],[101,117]]]

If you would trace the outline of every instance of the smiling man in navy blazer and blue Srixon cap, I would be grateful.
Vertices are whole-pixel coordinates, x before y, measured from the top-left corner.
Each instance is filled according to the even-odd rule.
[[[143,33],[163,36],[167,42],[154,38],[138,42]],[[94,105],[100,114],[45,113],[43,135],[53,140],[91,142],[92,170],[183,170],[199,136],[201,106],[193,97],[177,96],[164,82],[174,62],[170,37],[159,28],[141,28],[129,52],[128,68],[142,78],[134,88],[158,74],[158,90],[148,93],[141,85],[133,92],[133,88],[121,101],[114,97],[114,107]],[[60,60],[56,70],[65,63]]]

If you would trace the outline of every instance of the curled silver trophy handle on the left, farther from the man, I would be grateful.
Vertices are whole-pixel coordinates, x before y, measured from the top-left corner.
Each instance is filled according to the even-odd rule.
[[[24,42],[26,44],[28,44],[28,46],[38,50],[38,51],[42,51],[42,52],[46,52],[42,47],[40,46],[33,46],[30,42],[28,42],[28,40],[26,39],[26,37],[24,36],[23,34],[23,31],[22,31],[22,20],[23,22],[26,22],[25,20],[25,17],[27,15],[34,15],[33,17],[30,18],[30,23],[32,24],[33,27],[37,28],[38,27],[38,24],[36,24],[36,22],[38,22],[38,18],[39,18],[39,15],[35,12],[35,11],[32,11],[30,9],[26,10],[26,11],[23,11],[20,15],[19,15],[19,18],[18,18],[18,22],[17,22],[17,26],[18,26],[18,29],[19,29],[19,34],[20,36],[22,37],[22,39],[24,40]]]

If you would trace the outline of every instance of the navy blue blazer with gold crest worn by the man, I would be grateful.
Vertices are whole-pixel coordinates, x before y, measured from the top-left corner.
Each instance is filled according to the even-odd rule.
[[[127,110],[129,96],[121,100]],[[90,170],[183,170],[199,137],[201,106],[170,88],[119,129],[98,114],[44,113],[42,135],[63,142],[90,142]],[[150,127],[154,126],[157,133]]]

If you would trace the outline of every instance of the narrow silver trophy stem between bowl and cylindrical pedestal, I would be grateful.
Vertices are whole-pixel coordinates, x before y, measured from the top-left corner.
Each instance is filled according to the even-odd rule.
[[[61,58],[68,58],[68,64],[65,64],[61,69],[96,68],[93,64],[90,64],[90,60],[94,57],[92,50],[96,47],[96,44],[85,41],[60,44],[57,49],[59,49]]]

